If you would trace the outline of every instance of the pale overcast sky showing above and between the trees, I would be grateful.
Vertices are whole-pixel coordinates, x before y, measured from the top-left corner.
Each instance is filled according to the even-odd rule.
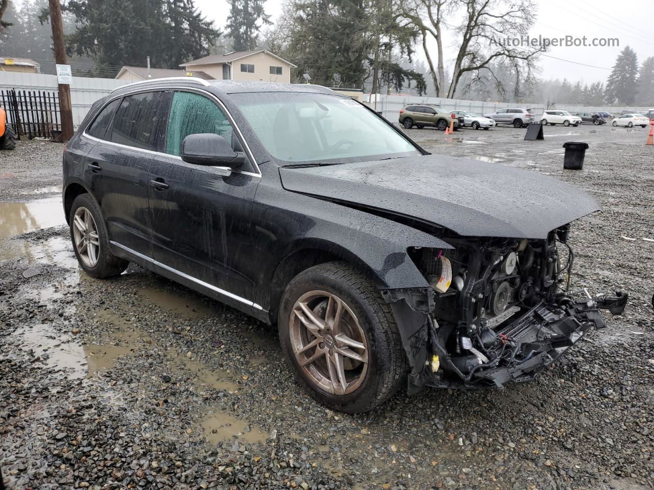
[[[606,81],[617,54],[630,46],[638,54],[639,63],[654,56],[654,1],[652,0],[534,0],[538,18],[532,36],[558,38],[565,35],[594,38],[617,38],[619,47],[553,47],[547,56],[576,63],[541,57],[542,78],[568,78],[583,82]],[[217,27],[224,28],[229,13],[226,0],[196,0],[196,6]],[[267,0],[266,12],[273,20],[282,13],[283,0]],[[451,46],[452,37],[446,39]],[[422,58],[422,49],[417,46]],[[454,56],[454,50],[451,50]],[[447,54],[447,50],[445,51]],[[584,66],[584,65],[593,65]]]

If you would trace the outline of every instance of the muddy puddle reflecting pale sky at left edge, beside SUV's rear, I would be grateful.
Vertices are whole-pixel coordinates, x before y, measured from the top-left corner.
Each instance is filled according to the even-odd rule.
[[[31,203],[0,203],[0,238],[65,224],[61,195]]]

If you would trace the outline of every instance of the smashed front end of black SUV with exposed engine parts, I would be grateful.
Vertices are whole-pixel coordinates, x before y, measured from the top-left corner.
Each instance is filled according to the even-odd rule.
[[[431,287],[383,291],[411,364],[409,393],[531,380],[588,329],[605,327],[600,309],[622,314],[626,293],[569,290],[568,231],[544,240],[443,237],[453,250],[409,250]]]

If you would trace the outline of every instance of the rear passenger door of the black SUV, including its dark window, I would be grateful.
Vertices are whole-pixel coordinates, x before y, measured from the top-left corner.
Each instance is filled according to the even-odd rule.
[[[148,165],[162,131],[165,93],[148,91],[109,103],[115,110],[106,133],[86,157],[88,182],[107,223],[109,239],[148,257]],[[100,114],[102,115],[102,114]],[[95,124],[95,123],[94,123]]]

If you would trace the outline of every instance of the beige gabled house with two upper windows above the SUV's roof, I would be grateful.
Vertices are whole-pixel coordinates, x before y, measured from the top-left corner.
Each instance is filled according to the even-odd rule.
[[[180,65],[186,70],[209,74],[216,80],[263,81],[290,84],[296,65],[267,50],[212,54]]]

